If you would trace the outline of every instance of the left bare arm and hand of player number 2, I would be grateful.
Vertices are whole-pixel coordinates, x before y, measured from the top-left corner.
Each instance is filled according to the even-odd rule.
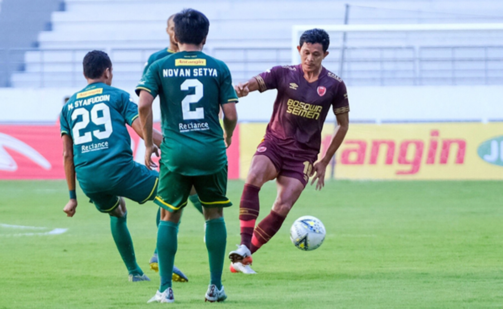
[[[159,150],[155,146],[152,138],[152,102],[154,97],[146,90],[140,91],[140,100],[138,102],[138,114],[140,115],[141,132],[145,142],[145,166],[149,169],[157,167],[152,161],[152,154],[159,156]]]

